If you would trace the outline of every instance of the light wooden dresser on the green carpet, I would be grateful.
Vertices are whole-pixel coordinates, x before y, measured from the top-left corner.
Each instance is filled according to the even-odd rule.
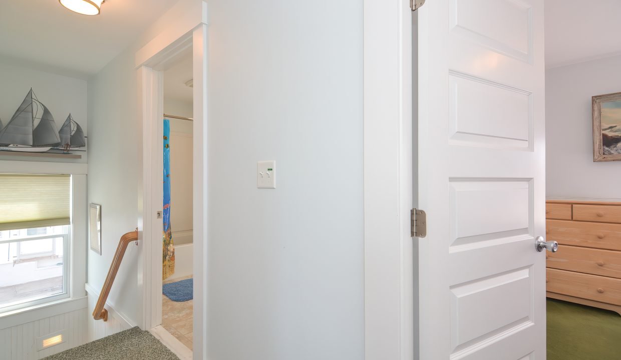
[[[621,315],[621,203],[546,201],[546,290]]]

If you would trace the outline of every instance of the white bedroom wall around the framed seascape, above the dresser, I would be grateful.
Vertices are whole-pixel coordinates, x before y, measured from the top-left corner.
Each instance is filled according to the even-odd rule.
[[[593,162],[591,97],[621,92],[621,56],[546,70],[546,197],[621,200],[621,162]]]

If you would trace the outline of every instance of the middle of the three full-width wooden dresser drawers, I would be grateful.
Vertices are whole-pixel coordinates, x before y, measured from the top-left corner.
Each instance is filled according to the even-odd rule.
[[[546,258],[548,268],[621,279],[621,252],[564,245]]]

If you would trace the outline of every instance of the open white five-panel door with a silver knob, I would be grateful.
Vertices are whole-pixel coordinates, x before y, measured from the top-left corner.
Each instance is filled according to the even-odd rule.
[[[543,1],[417,12],[420,359],[544,360]]]

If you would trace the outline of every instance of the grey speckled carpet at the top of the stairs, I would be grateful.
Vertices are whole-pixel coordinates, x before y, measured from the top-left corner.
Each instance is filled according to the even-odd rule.
[[[179,360],[148,331],[130,328],[43,360]]]

